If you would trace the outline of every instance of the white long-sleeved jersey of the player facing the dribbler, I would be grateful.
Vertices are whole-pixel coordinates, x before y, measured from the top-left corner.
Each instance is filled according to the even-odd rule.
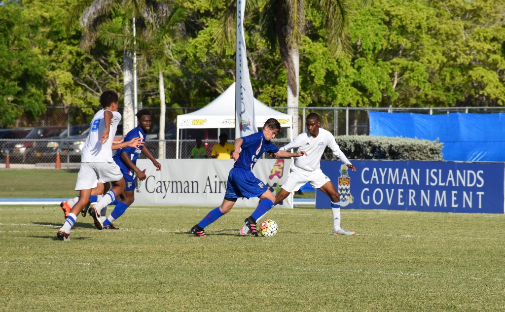
[[[321,167],[321,157],[326,146],[330,147],[333,154],[344,164],[350,164],[347,157],[340,150],[340,147],[338,147],[337,142],[335,142],[333,134],[323,128],[319,128],[319,134],[315,138],[312,137],[309,130],[302,132],[292,142],[281,147],[281,149],[289,151],[291,148],[294,148],[296,152],[305,150],[307,156],[296,157],[294,159],[294,166],[306,171],[314,171]]]

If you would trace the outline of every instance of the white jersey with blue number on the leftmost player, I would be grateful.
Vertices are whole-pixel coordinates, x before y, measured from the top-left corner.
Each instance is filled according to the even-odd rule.
[[[121,114],[118,112],[112,112],[112,120],[109,132],[109,139],[105,143],[100,142],[100,136],[104,134],[105,131],[105,110],[100,110],[96,112],[93,120],[89,124],[89,134],[86,138],[86,142],[82,147],[81,161],[83,163],[113,163],[112,159],[112,141],[116,135],[116,130],[118,129],[118,124],[121,121]]]

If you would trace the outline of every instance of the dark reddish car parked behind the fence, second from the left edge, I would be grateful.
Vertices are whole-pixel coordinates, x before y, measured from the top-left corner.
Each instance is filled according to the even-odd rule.
[[[65,129],[67,129],[66,126],[36,127],[23,140],[6,142],[5,148],[9,149],[11,162],[34,163],[36,161],[36,147],[41,149],[43,144],[48,145],[47,141],[41,143],[38,140],[58,136]]]

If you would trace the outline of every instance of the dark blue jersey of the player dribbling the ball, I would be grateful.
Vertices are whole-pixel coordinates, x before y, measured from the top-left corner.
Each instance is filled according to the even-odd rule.
[[[277,146],[265,139],[263,131],[244,136],[242,140],[244,141],[241,146],[240,157],[233,165],[235,168],[252,171],[252,168],[264,152],[276,153],[279,151]]]

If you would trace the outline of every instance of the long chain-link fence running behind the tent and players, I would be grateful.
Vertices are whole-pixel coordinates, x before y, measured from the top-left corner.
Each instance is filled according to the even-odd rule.
[[[156,158],[160,158],[159,151],[164,150],[166,159],[175,159],[177,115],[191,113],[196,109],[167,108],[166,139],[163,141],[158,139],[160,108],[148,109],[153,125],[145,146]],[[286,108],[275,109],[287,112]],[[88,124],[98,110],[98,107],[48,107],[45,114],[37,120],[20,118],[15,129],[0,129],[0,197],[32,197],[37,194],[40,197],[75,196],[73,189],[80,166],[81,149],[87,137]],[[369,111],[420,114],[501,113],[505,108],[299,108],[298,129],[300,132],[306,130],[305,118],[314,112],[320,115],[321,126],[334,135],[368,135]],[[234,129],[181,130],[180,158],[190,158],[197,137],[202,139],[210,158],[213,146],[219,142],[220,133],[226,133],[228,141],[233,142]],[[117,136],[122,135],[120,126]],[[283,128],[274,143],[280,147],[288,142],[288,130]],[[144,156],[141,155],[140,158]]]

